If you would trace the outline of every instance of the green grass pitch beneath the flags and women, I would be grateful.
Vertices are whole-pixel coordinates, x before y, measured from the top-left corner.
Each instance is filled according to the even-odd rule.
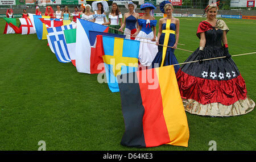
[[[178,48],[199,47],[197,26],[205,18],[179,18]],[[256,51],[256,22],[223,19],[228,25],[231,55]],[[36,34],[3,35],[0,19],[0,150],[126,150],[174,151],[209,149],[256,150],[256,111],[237,117],[201,117],[187,114],[188,147],[163,145],[152,148],[121,146],[125,125],[119,93],[97,82],[97,74],[78,73],[72,63],[59,63]],[[176,49],[179,63],[191,53]],[[256,101],[256,55],[233,57],[246,81],[248,95]]]

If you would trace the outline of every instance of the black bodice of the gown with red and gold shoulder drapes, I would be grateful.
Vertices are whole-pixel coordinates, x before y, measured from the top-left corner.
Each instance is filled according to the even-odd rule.
[[[213,30],[205,31],[205,47],[222,47],[222,35],[222,30],[216,30],[214,28]]]

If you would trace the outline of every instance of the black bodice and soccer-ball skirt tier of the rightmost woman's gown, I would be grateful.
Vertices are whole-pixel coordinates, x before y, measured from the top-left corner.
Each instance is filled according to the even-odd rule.
[[[205,47],[202,59],[225,56],[222,47],[223,31],[213,28],[205,31]],[[192,53],[185,62],[200,60],[199,48]],[[206,78],[210,80],[230,80],[240,75],[240,72],[231,58],[214,59],[202,63],[189,63],[183,65],[181,70],[191,76]]]

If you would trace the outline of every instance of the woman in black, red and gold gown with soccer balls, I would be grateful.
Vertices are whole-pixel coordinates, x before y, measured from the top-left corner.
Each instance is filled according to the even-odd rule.
[[[255,102],[247,96],[245,80],[228,52],[229,28],[216,19],[216,5],[208,6],[206,11],[207,20],[197,29],[200,47],[185,62],[226,57],[188,63],[176,73],[185,111],[214,117],[249,113]]]

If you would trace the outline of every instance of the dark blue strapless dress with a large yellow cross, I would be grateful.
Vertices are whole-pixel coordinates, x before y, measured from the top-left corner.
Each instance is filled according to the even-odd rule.
[[[166,24],[170,25],[167,27]],[[162,25],[162,34],[159,38],[159,44],[167,45],[169,47],[163,47],[162,45],[158,45],[158,53],[156,54],[155,59],[152,61],[152,68],[157,66],[162,67],[167,65],[178,64],[178,61],[174,55],[174,49],[170,48],[174,46],[176,41],[175,31],[176,25],[174,23],[171,23],[170,19],[167,19],[167,23],[164,23]],[[179,65],[175,65],[174,69],[176,73],[180,69]]]

